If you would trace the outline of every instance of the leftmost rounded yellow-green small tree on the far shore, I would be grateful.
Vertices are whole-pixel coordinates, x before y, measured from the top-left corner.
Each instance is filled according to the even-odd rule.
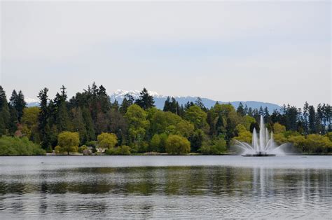
[[[60,152],[77,152],[80,138],[78,132],[61,132],[57,136],[57,144],[60,146]]]

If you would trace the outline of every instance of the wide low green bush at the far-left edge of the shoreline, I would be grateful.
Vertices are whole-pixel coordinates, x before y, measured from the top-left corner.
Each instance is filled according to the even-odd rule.
[[[0,156],[44,155],[41,147],[27,137],[0,137]]]

